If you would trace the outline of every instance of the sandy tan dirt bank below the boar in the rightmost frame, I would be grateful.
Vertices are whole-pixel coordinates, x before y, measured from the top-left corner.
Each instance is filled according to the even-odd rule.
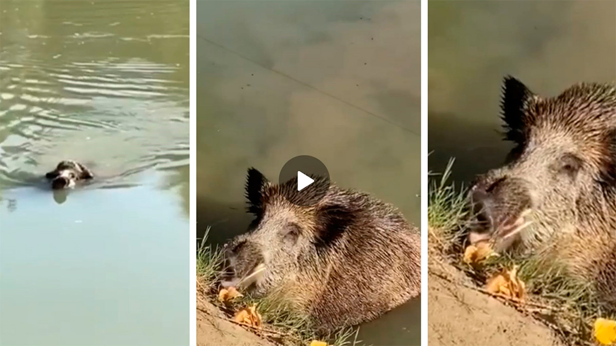
[[[428,268],[428,345],[561,345],[551,329],[531,316],[454,284],[468,278],[451,265],[429,260]]]

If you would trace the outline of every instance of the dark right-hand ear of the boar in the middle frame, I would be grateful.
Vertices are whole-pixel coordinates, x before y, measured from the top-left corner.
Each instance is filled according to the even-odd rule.
[[[330,204],[321,207],[317,212],[317,228],[315,230],[315,246],[317,246],[317,249],[323,249],[334,244],[353,220],[354,214],[346,206]]]

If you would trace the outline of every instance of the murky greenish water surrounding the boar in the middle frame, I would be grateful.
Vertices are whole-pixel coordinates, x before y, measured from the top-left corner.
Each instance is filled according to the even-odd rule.
[[[419,19],[419,1],[198,2],[198,233],[211,225],[221,243],[245,231],[246,169],[277,181],[299,155],[419,225]],[[419,308],[359,339],[418,345]]]

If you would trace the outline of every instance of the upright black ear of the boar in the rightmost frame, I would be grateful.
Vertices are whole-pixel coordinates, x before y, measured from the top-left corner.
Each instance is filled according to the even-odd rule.
[[[506,76],[503,81],[501,118],[505,121],[505,139],[518,144],[524,143],[524,117],[530,101],[535,95],[521,81]]]

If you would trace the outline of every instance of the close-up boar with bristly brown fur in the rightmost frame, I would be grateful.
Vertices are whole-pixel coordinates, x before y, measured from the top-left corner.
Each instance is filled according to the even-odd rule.
[[[616,313],[616,89],[581,83],[556,97],[508,77],[503,87],[504,166],[481,175],[472,193],[490,196],[493,227],[530,209],[516,249],[550,249],[570,275],[591,283]],[[511,248],[514,246],[512,245]]]

